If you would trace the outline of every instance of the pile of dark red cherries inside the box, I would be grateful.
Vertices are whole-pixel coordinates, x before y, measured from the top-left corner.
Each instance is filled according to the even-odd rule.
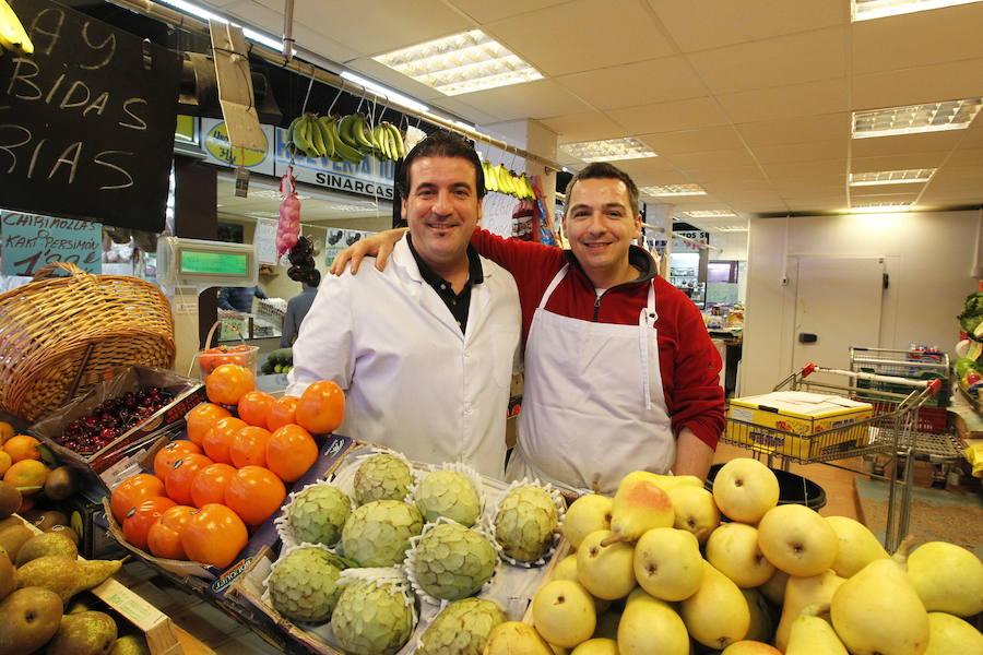
[[[129,391],[117,398],[107,398],[96,405],[90,415],[67,425],[55,442],[83,455],[92,454],[112,443],[120,434],[150,418],[173,400],[174,394],[159,386],[146,386]]]

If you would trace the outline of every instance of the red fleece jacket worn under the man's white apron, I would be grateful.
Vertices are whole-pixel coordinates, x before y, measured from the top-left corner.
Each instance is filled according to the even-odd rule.
[[[649,285],[654,279],[659,366],[673,432],[678,436],[683,428],[689,428],[710,448],[716,448],[724,428],[720,354],[710,341],[700,311],[683,291],[655,274],[655,262],[648,252],[631,247],[629,260],[642,271],[641,275],[609,288],[595,309],[594,285],[569,251],[502,239],[481,228],[474,230],[471,242],[478,253],[516,278],[522,305],[523,343],[546,287],[564,264],[569,263],[570,270],[549,297],[546,310],[584,321],[637,324],[638,312],[646,307]]]

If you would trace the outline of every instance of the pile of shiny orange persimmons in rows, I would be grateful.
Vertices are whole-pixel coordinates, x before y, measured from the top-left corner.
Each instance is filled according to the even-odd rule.
[[[205,391],[211,402],[186,416],[188,438],[159,449],[153,473],[123,480],[110,505],[133,546],[225,568],[317,461],[312,434],[341,425],[345,396],[323,380],[299,397],[273,397],[234,364],[216,367]]]

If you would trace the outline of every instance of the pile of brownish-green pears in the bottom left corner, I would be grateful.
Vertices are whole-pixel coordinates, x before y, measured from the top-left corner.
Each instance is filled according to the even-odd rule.
[[[16,514],[0,529],[0,655],[149,655],[142,635],[119,638],[112,617],[76,598],[121,560],[80,559],[69,536],[37,533]]]

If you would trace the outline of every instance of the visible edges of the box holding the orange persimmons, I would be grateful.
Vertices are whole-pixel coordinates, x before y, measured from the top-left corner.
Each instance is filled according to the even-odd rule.
[[[151,448],[143,456],[142,467],[153,472],[153,461],[154,455],[157,450],[166,445],[171,441],[168,437],[163,437],[159,439],[153,448]],[[335,434],[329,434],[327,439],[321,440],[319,450],[320,454],[318,460],[311,465],[311,467],[304,474],[304,476],[298,479],[296,483],[291,485],[287,488],[287,493],[289,493],[293,489],[303,489],[307,485],[316,483],[320,479],[323,479],[331,475],[332,472],[337,467],[339,463],[342,461],[345,453],[348,449],[352,448],[353,441],[347,437],[341,437]],[[139,473],[139,468],[134,468],[132,474]],[[116,522],[116,519],[112,516],[112,512],[109,508],[109,498],[103,499],[103,504],[106,511],[106,520],[108,522],[108,531],[109,534],[115,538],[119,544],[139,557],[140,559],[164,569],[178,577],[202,577],[208,581],[211,581],[210,591],[212,594],[218,597],[224,597],[228,586],[241,575],[250,565],[253,559],[257,558],[259,552],[263,549],[263,547],[273,547],[276,541],[280,539],[280,536],[276,533],[276,526],[273,524],[277,516],[280,516],[283,508],[276,510],[262,525],[256,528],[252,534],[249,535],[249,541],[247,541],[246,546],[236,556],[233,560],[233,563],[226,567],[225,569],[218,569],[216,567],[211,567],[208,564],[203,564],[201,562],[193,561],[183,561],[183,560],[171,560],[164,559],[159,557],[154,557],[150,552],[141,550],[137,548],[129,541],[127,541],[126,537],[122,534],[122,527],[119,523]]]

